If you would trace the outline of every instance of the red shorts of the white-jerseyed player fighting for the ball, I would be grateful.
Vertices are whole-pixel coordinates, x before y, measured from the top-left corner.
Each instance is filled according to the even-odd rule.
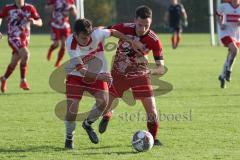
[[[67,98],[70,99],[78,99],[82,98],[83,92],[88,91],[90,94],[94,95],[98,91],[107,91],[108,85],[106,82],[93,80],[87,81],[86,78],[75,76],[75,75],[67,75],[66,80],[66,95]]]

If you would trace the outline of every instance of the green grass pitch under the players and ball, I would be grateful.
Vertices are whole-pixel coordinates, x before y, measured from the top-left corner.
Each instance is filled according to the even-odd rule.
[[[32,89],[29,92],[19,89],[17,68],[8,80],[7,93],[0,94],[0,159],[239,159],[239,60],[234,66],[232,82],[222,90],[217,77],[222,70],[226,48],[210,47],[207,34],[183,35],[182,44],[177,50],[170,46],[170,35],[159,37],[164,45],[165,63],[169,69],[161,79],[173,85],[170,93],[156,98],[162,116],[158,138],[163,142],[163,147],[155,147],[145,153],[136,153],[132,149],[133,133],[146,130],[144,110],[139,102],[135,106],[128,106],[121,101],[108,131],[103,135],[98,133],[99,144],[90,143],[78,122],[75,149],[64,150],[64,123],[54,112],[55,105],[64,99],[64,95],[53,91],[48,83],[49,75],[54,70],[56,52],[52,61],[47,62],[50,37],[33,35],[27,75]],[[113,54],[106,53],[109,60]],[[11,50],[4,37],[0,41],[1,75],[10,57]],[[65,60],[67,58],[65,56]],[[80,111],[88,110],[93,103],[91,98],[83,98]],[[96,131],[98,122],[94,125]]]

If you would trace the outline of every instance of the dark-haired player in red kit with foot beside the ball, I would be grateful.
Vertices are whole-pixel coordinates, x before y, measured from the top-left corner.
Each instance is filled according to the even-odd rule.
[[[136,54],[128,42],[119,40],[111,71],[113,83],[109,89],[110,96],[107,108],[109,111],[114,99],[122,97],[124,91],[131,88],[134,98],[139,99],[146,110],[147,127],[154,138],[154,144],[161,145],[157,139],[158,113],[149,69],[147,69],[146,56],[150,51],[153,52],[156,69],[151,71],[152,74],[164,73],[164,60],[162,44],[157,35],[150,30],[151,23],[152,10],[147,6],[139,6],[136,9],[134,23],[123,23],[109,27],[140,41],[145,49],[142,55]],[[103,116],[99,124],[100,133],[105,132],[110,117],[111,112]]]

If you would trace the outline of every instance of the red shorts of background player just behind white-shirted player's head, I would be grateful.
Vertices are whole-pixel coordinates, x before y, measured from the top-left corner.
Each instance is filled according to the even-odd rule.
[[[67,38],[71,34],[71,28],[55,28],[52,27],[51,37],[52,40],[61,40],[63,37]]]

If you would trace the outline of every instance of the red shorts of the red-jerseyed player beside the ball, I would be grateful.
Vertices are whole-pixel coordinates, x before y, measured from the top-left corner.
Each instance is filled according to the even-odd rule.
[[[124,91],[127,91],[130,88],[135,99],[152,97],[154,95],[151,79],[148,75],[132,78],[113,71],[112,77],[113,84],[109,88],[109,92],[115,97],[122,97]]]

